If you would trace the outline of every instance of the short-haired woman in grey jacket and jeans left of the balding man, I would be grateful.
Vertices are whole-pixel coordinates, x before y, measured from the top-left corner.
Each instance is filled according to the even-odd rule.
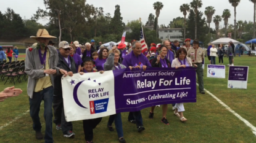
[[[110,52],[112,53],[110,53],[109,58],[107,58],[107,61],[104,63],[104,70],[110,71],[110,70],[125,69],[126,66],[118,63],[118,60],[120,59],[120,51],[116,49],[112,49],[110,50]],[[112,127],[112,123],[114,121],[115,121],[115,128],[117,129],[119,142],[123,142],[123,143],[126,142],[125,139],[123,138],[123,125],[122,125],[121,113],[110,115],[109,122],[107,123],[107,128],[109,128],[109,131],[114,131]]]

